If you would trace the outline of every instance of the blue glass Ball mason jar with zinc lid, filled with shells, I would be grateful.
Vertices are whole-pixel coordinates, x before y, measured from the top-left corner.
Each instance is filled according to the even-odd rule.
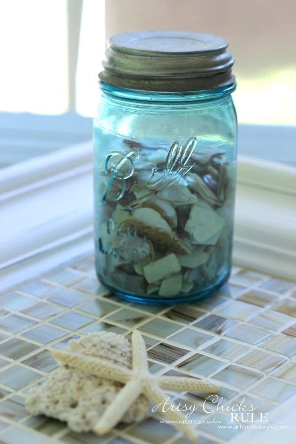
[[[94,119],[99,280],[137,302],[187,302],[231,268],[233,57],[220,37],[136,32],[108,41]]]

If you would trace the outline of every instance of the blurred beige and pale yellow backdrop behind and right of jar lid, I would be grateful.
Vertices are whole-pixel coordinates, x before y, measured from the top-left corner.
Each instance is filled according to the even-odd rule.
[[[235,57],[240,122],[296,125],[295,0],[106,0],[106,37],[176,29],[216,34]]]

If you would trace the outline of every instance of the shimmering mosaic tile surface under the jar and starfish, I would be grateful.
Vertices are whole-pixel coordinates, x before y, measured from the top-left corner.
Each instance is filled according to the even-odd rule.
[[[296,394],[296,284],[233,267],[215,295],[175,306],[121,301],[97,281],[93,258],[73,263],[0,296],[0,442],[22,444],[186,444],[154,411],[138,424],[118,424],[104,437],[32,416],[30,387],[56,368],[53,348],[95,331],[143,334],[154,374],[216,381],[216,394],[173,393],[191,408],[198,444],[227,443],[242,433],[221,409],[244,403],[271,412]],[[218,407],[217,407],[218,404]],[[195,409],[194,409],[195,408]],[[173,416],[173,412],[172,412]],[[173,418],[172,418],[173,419]]]

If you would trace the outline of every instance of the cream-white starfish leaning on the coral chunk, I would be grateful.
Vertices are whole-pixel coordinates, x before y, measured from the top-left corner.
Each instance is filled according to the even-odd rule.
[[[126,369],[113,364],[104,358],[86,356],[81,353],[53,350],[52,354],[54,358],[87,374],[93,374],[125,384],[95,424],[93,431],[97,435],[108,433],[141,394],[144,394],[149,401],[158,406],[163,405],[167,398],[162,389],[211,392],[219,388],[217,385],[192,377],[151,374],[148,369],[145,342],[141,333],[137,330],[132,333],[132,369]],[[178,410],[177,405],[172,402],[171,408],[166,411],[162,409],[164,416],[168,418],[170,418],[173,410],[175,418],[174,427],[190,440],[196,440],[197,434],[195,430],[185,423],[185,416]]]

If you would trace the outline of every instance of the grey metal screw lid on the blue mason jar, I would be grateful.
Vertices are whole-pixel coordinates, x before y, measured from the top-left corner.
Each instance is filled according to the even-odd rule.
[[[228,43],[210,34],[149,31],[108,40],[100,80],[146,91],[200,91],[235,82]]]

